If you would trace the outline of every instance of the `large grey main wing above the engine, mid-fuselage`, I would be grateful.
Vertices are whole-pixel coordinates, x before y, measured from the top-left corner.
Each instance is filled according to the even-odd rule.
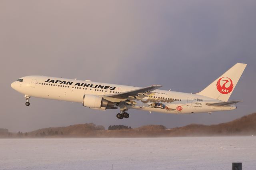
[[[138,89],[134,89],[131,91],[122,92],[122,93],[104,95],[104,98],[131,99],[131,98],[136,98],[137,96],[140,96],[140,95],[151,96],[154,93],[152,94],[150,92],[153,90],[156,90],[160,87],[162,87],[162,86],[161,85],[151,85],[148,87],[142,87],[142,88],[138,88]]]

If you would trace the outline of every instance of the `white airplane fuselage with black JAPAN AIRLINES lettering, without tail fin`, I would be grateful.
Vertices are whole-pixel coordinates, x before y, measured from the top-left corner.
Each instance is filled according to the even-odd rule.
[[[22,82],[15,81],[12,88],[16,91],[44,99],[54,99],[82,103],[84,95],[104,96],[138,89],[139,87],[64,79],[46,76],[22,77]],[[135,105],[128,105],[128,109],[161,113],[205,113],[236,109],[236,106],[214,107],[206,103],[221,102],[202,95],[181,93],[175,91],[154,90],[153,96],[134,99]],[[154,103],[154,104],[153,104]]]

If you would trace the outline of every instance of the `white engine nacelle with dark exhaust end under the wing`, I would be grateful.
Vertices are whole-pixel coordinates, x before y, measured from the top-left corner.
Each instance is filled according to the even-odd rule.
[[[107,101],[96,95],[84,95],[83,106],[90,108],[114,107],[114,102]]]

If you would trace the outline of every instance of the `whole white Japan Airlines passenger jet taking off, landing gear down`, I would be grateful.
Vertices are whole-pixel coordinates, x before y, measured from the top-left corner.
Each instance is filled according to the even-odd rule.
[[[228,101],[247,64],[236,63],[199,93],[160,90],[161,85],[133,87],[98,83],[90,80],[64,79],[47,76],[25,76],[11,87],[25,95],[26,106],[30,97],[82,103],[90,109],[118,109],[118,119],[129,118],[128,109],[143,111],[193,114],[236,109],[242,101]]]

